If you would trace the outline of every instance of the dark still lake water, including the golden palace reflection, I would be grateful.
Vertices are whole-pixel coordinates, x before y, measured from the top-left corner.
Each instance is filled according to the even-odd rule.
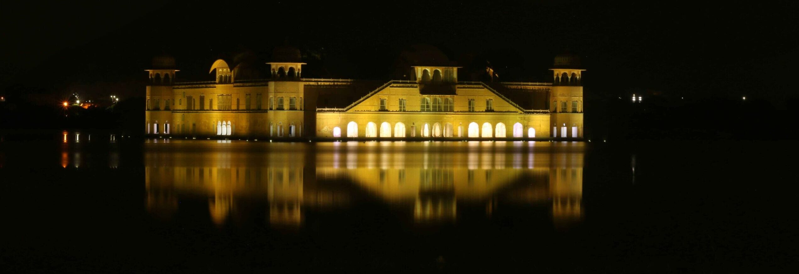
[[[0,143],[2,272],[790,272],[797,145]]]

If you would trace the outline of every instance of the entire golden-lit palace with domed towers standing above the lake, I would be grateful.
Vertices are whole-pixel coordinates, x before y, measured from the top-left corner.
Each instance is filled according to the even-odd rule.
[[[552,83],[466,82],[449,61],[420,60],[409,80],[306,78],[300,51],[278,48],[267,79],[237,79],[240,65],[211,65],[215,80],[175,81],[174,59],[149,72],[145,133],[269,139],[582,139],[578,57],[559,55]]]

